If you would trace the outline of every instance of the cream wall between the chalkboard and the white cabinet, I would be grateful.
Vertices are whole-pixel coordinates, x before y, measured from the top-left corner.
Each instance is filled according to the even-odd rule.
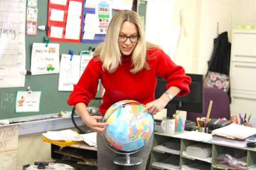
[[[232,42],[236,23],[256,22],[254,9],[255,0],[173,0],[171,22],[173,26],[181,25],[182,10],[185,30],[181,32],[174,62],[188,73],[206,74],[217,30],[219,34],[228,31]],[[154,12],[157,10],[162,9]]]

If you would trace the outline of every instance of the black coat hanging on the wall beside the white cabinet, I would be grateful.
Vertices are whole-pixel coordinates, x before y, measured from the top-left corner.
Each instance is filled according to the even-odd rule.
[[[230,70],[230,49],[228,33],[223,32],[214,39],[213,54],[209,61],[208,71],[229,75]]]

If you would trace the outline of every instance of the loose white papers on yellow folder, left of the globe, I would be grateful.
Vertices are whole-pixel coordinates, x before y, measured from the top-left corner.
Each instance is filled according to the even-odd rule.
[[[44,137],[49,140],[62,141],[62,140],[72,140],[72,141],[84,141],[89,146],[97,146],[96,142],[96,132],[78,134],[71,129],[62,131],[47,131],[47,133],[42,133]]]

